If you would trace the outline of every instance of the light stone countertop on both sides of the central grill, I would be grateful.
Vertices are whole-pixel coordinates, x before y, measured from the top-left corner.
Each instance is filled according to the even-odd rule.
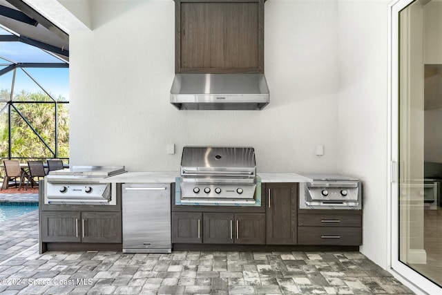
[[[179,171],[126,172],[104,178],[106,183],[171,183],[180,176]],[[310,178],[296,173],[258,173],[261,182],[311,182]]]

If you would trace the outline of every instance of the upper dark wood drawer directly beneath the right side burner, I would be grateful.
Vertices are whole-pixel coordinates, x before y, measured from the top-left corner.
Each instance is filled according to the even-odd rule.
[[[361,215],[299,214],[300,227],[361,227]]]

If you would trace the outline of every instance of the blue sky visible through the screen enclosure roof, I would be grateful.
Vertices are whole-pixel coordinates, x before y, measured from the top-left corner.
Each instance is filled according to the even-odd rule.
[[[0,35],[10,35],[0,28]],[[4,58],[4,59],[3,59]],[[60,59],[39,48],[21,42],[0,42],[0,70],[13,62],[62,62]],[[69,99],[69,68],[26,68],[37,82],[54,97]],[[12,71],[0,76],[0,88],[10,89]],[[23,72],[17,69],[14,91],[26,90],[30,93],[40,92],[41,88]]]

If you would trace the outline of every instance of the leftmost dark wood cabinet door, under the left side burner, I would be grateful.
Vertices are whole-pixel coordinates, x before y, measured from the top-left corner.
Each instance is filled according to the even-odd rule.
[[[41,212],[42,242],[80,242],[80,213],[72,211]]]

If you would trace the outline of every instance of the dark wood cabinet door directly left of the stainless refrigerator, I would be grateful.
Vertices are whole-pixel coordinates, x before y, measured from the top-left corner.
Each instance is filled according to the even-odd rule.
[[[122,242],[122,213],[81,213],[81,240],[82,242]]]

